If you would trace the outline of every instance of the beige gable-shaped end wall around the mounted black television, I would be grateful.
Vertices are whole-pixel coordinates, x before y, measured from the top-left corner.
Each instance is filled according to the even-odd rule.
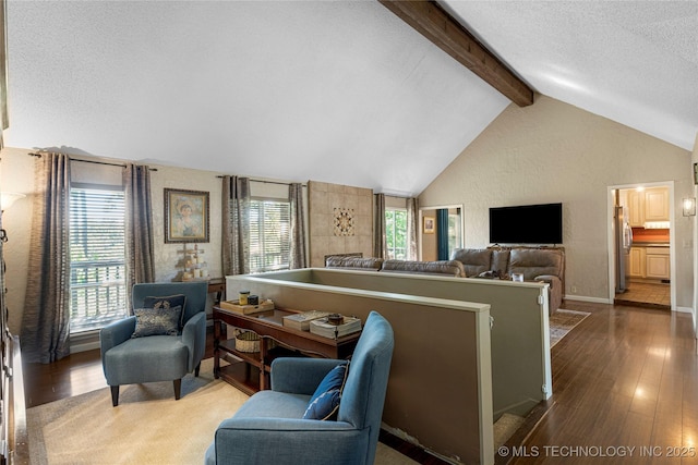
[[[489,208],[563,203],[568,297],[607,302],[607,187],[674,182],[676,305],[693,308],[691,155],[604,118],[539,96],[509,106],[420,195],[420,207],[464,204],[466,247],[489,245]],[[576,292],[571,292],[575,287]]]

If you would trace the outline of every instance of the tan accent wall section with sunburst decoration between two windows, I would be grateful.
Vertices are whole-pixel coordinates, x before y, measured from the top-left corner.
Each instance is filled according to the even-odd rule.
[[[340,184],[308,183],[311,267],[325,255],[373,250],[373,191]]]

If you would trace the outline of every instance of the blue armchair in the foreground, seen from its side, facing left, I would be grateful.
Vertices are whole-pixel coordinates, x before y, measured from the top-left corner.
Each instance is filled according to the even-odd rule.
[[[302,417],[325,375],[346,360],[277,358],[272,390],[252,395],[218,426],[206,465],[373,464],[393,347],[393,328],[371,311],[351,357],[336,421]]]

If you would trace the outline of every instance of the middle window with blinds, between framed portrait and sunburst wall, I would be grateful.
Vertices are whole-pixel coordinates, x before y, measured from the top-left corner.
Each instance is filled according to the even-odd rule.
[[[290,253],[290,203],[250,200],[250,272],[287,270]]]

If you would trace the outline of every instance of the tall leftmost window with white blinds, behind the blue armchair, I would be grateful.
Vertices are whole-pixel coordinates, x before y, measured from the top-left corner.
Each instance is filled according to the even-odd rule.
[[[70,331],[99,329],[125,315],[123,191],[71,187]]]

